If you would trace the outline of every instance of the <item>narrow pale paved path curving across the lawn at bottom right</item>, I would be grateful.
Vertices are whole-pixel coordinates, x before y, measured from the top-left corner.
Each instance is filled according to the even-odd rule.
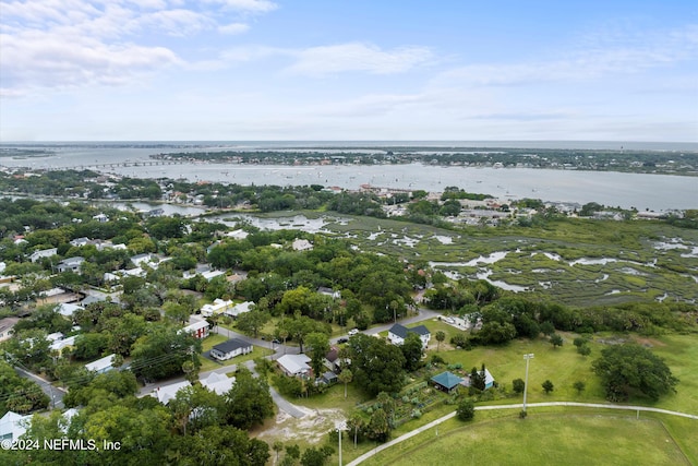
[[[534,408],[534,407],[542,407],[542,406],[581,406],[581,407],[587,407],[587,408],[604,408],[604,409],[624,409],[624,410],[629,410],[629,411],[651,411],[651,413],[662,413],[665,415],[670,415],[670,416],[681,416],[681,417],[685,417],[685,418],[690,418],[690,419],[696,419],[698,420],[698,416],[696,415],[689,415],[687,413],[678,413],[678,411],[670,411],[669,409],[660,409],[660,408],[650,408],[647,406],[626,406],[626,405],[609,405],[609,404],[602,404],[602,403],[576,403],[576,402],[550,402],[550,403],[527,403],[526,407],[527,408]],[[480,411],[480,410],[492,410],[492,409],[522,409],[524,405],[522,404],[515,404],[515,405],[491,405],[491,406],[476,406],[476,410]],[[351,463],[347,464],[347,466],[356,466],[359,465],[361,463],[363,463],[364,461],[369,459],[371,456],[389,449],[393,445],[397,445],[400,442],[404,442],[408,439],[411,439],[412,437],[420,434],[433,427],[438,426],[440,423],[453,418],[456,416],[456,411],[450,413],[446,416],[443,416],[436,420],[431,421],[428,425],[424,425],[418,429],[414,429],[410,432],[407,432],[404,435],[398,437],[397,439],[390,440],[387,443],[384,443],[382,445],[376,446],[375,449],[371,450],[370,452],[364,453],[363,455],[359,456],[357,459],[352,461]]]

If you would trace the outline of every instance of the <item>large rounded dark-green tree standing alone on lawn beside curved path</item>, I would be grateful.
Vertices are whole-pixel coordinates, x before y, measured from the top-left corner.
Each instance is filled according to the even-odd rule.
[[[675,392],[678,383],[662,358],[636,344],[604,348],[591,366],[611,402],[625,402],[631,393],[657,401],[661,395]]]

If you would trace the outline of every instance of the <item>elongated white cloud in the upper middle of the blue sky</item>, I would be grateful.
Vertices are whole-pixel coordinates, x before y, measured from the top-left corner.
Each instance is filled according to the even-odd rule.
[[[291,55],[297,61],[286,71],[313,76],[349,71],[373,74],[400,73],[433,59],[432,51],[426,47],[382,50],[374,45],[362,43],[311,47]]]

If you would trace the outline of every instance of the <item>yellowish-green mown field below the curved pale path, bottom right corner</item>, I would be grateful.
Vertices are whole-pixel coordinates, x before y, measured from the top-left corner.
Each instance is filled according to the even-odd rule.
[[[531,415],[423,433],[365,465],[686,465],[690,462],[662,423],[616,416]]]

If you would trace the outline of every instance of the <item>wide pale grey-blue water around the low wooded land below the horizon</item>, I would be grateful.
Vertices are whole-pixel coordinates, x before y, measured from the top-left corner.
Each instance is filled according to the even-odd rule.
[[[56,168],[80,167],[95,164],[123,164],[125,162],[151,162],[149,155],[166,152],[213,151],[230,148],[275,148],[309,146],[365,146],[382,145],[432,145],[447,148],[449,142],[315,142],[315,143],[196,143],[167,147],[148,143],[149,146],[127,146],[124,143],[99,145],[23,145],[23,148],[49,148],[55,155],[15,159],[0,158],[8,167]],[[165,144],[165,143],[164,143]],[[171,143],[170,143],[171,144]],[[610,146],[613,144],[613,147]],[[679,151],[691,150],[693,143],[561,143],[561,142],[453,142],[454,146],[491,147],[543,147],[543,148],[645,148]],[[2,147],[9,147],[4,144]],[[581,146],[581,147],[580,147]],[[695,147],[693,148],[695,150]],[[409,165],[239,165],[239,164],[184,164],[141,167],[115,167],[108,172],[134,178],[183,178],[192,182],[214,181],[238,184],[322,184],[357,190],[361,184],[407,190],[443,191],[446,187],[458,187],[468,192],[491,194],[500,199],[541,199],[545,202],[585,204],[598,202],[623,208],[640,211],[669,211],[698,208],[698,178],[622,174],[612,171],[578,171],[529,168],[474,168],[441,167],[422,164]]]

